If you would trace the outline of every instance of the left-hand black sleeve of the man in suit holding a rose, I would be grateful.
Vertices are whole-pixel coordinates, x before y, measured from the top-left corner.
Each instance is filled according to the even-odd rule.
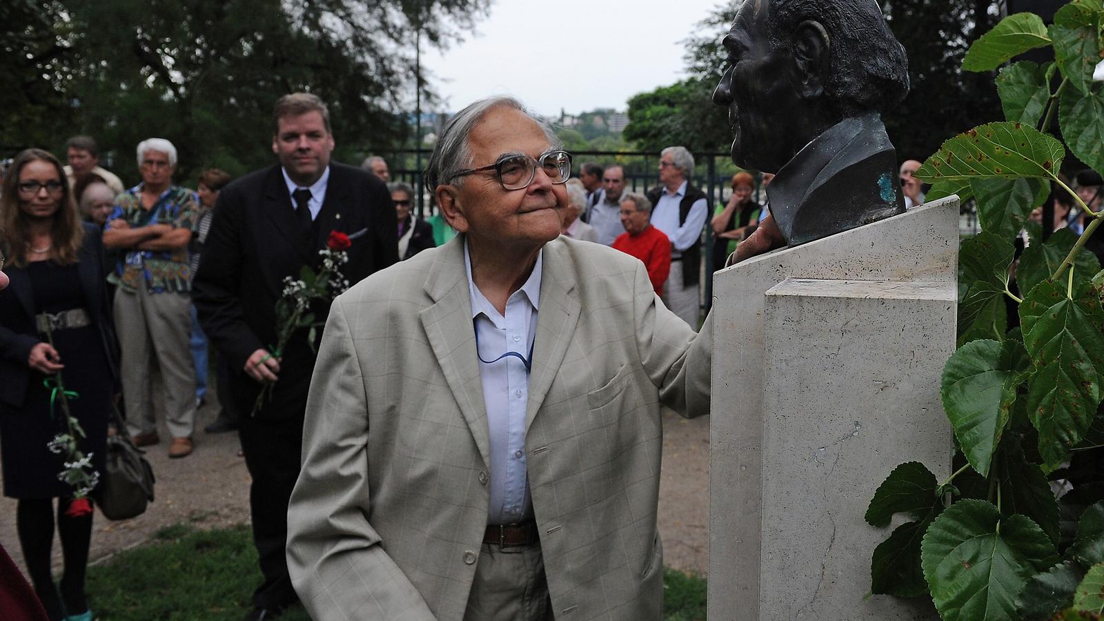
[[[219,192],[200,267],[192,278],[192,303],[200,326],[234,370],[245,367],[250,355],[264,347],[245,323],[242,307],[244,208],[234,186]]]

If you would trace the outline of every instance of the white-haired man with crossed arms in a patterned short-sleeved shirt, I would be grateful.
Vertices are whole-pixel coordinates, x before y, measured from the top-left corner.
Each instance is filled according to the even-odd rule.
[[[123,350],[123,396],[135,444],[157,444],[150,371],[161,370],[164,418],[172,434],[170,457],[192,452],[195,367],[191,337],[191,266],[188,243],[199,215],[199,197],[172,185],[177,148],[163,138],[138,145],[141,182],[115,199],[104,245],[121,260],[107,277],[118,286],[115,324]]]

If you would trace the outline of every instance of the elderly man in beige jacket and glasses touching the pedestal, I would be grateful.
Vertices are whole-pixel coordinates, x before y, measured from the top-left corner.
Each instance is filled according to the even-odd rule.
[[[458,235],[333,304],[288,513],[317,620],[659,619],[660,404],[709,411],[638,260],[560,236],[571,156],[477,102],[427,186]]]

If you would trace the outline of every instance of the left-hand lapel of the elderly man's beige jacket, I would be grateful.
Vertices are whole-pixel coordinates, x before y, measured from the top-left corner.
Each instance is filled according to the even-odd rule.
[[[489,466],[487,409],[479,379],[471,297],[464,269],[464,235],[456,235],[442,251],[429,267],[424,285],[434,304],[421,310],[418,317],[479,454]]]

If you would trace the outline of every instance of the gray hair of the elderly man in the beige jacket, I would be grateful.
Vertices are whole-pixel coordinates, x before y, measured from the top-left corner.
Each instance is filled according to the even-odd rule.
[[[500,106],[513,108],[524,114],[540,126],[552,148],[563,148],[563,141],[552,131],[552,128],[533,116],[518,99],[509,96],[479,99],[453,115],[440,130],[440,137],[437,138],[437,144],[433,148],[433,155],[429,156],[429,161],[425,166],[425,187],[431,193],[437,189],[437,186],[452,182],[458,171],[471,166],[468,135],[488,112]],[[463,183],[463,177],[457,179],[455,185]]]

